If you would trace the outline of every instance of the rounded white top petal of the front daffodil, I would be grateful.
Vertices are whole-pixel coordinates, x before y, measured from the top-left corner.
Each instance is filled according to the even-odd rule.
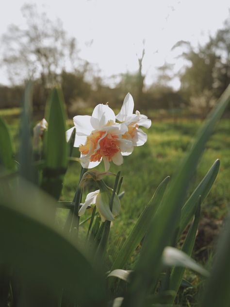
[[[115,122],[115,119],[114,111],[107,104],[100,103],[94,108],[90,122],[94,129],[99,130],[109,120]]]

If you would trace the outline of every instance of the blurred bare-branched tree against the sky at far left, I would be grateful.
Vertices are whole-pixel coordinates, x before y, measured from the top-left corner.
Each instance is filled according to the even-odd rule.
[[[44,88],[50,87],[76,61],[76,41],[67,37],[60,19],[52,22],[35,4],[25,4],[21,11],[26,27],[11,25],[3,34],[1,64],[12,84],[39,78]]]

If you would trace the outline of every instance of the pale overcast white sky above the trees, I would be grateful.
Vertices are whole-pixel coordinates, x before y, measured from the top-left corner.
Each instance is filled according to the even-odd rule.
[[[223,27],[229,16],[229,0],[7,0],[0,10],[0,35],[10,24],[24,26],[20,8],[36,3],[51,20],[60,18],[66,32],[76,37],[80,56],[100,68],[104,80],[138,69],[145,41],[143,73],[146,82],[156,79],[156,68],[168,62],[177,71],[184,63],[171,51],[180,41],[204,44]],[[8,84],[0,68],[0,83]],[[173,86],[180,85],[174,80]]]

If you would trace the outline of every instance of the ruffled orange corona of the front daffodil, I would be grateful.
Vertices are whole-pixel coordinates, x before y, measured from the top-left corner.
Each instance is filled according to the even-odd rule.
[[[87,136],[85,145],[79,146],[79,150],[82,154],[88,154],[89,151],[93,152],[90,156],[91,162],[100,161],[102,157],[107,157],[109,161],[111,161],[115,153],[120,151],[118,146],[118,136],[107,134],[103,137],[105,133],[105,131],[93,131],[90,136]],[[100,138],[101,140],[99,141]],[[98,142],[100,148],[96,151]]]

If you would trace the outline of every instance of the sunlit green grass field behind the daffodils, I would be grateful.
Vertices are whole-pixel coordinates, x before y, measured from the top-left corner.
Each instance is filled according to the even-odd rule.
[[[14,117],[12,117],[9,112],[4,113],[0,111],[0,115],[9,123],[17,148],[17,112],[15,111]],[[171,177],[174,175],[182,156],[190,146],[190,142],[195,136],[200,124],[201,120],[199,119],[178,119],[176,122],[172,119],[153,120],[152,126],[148,130],[147,143],[144,146],[136,147],[130,156],[124,157],[124,164],[122,166],[111,166],[110,171],[121,171],[121,175],[124,177],[121,190],[125,191],[125,195],[121,200],[121,213],[115,219],[111,228],[108,247],[110,255],[108,259],[109,262],[115,259],[119,247],[128,236],[133,223],[148,204],[157,186],[167,175]],[[72,125],[71,121],[69,121],[69,125]],[[196,187],[197,183],[209,170],[214,161],[217,158],[220,159],[220,171],[210,194],[202,204],[201,219],[206,218],[215,221],[223,220],[230,204],[230,187],[228,180],[230,178],[229,132],[230,120],[222,119],[215,129],[214,135],[207,144],[193,180],[191,190]],[[78,155],[78,149],[74,151],[74,154],[76,156]],[[97,169],[102,171],[103,165],[99,165]],[[65,176],[61,200],[72,201],[78,183],[79,172],[80,164],[78,162],[71,162]],[[113,177],[109,177],[106,180],[111,186],[113,185]],[[87,192],[94,191],[95,189],[97,189],[97,187],[93,182],[88,184],[85,189],[84,197]],[[65,220],[65,216],[66,210],[60,210],[60,222]],[[85,217],[82,217],[82,220],[86,217],[87,214]],[[82,233],[83,232],[84,227],[82,228]],[[130,259],[130,263],[127,265],[126,269],[131,269],[137,258],[138,249]],[[197,287],[197,277],[193,274],[189,274],[188,278]],[[191,293],[181,292],[180,295],[184,295],[182,301],[189,304],[188,296],[193,296],[194,290],[191,290]],[[193,301],[193,298],[191,298],[191,301]]]

